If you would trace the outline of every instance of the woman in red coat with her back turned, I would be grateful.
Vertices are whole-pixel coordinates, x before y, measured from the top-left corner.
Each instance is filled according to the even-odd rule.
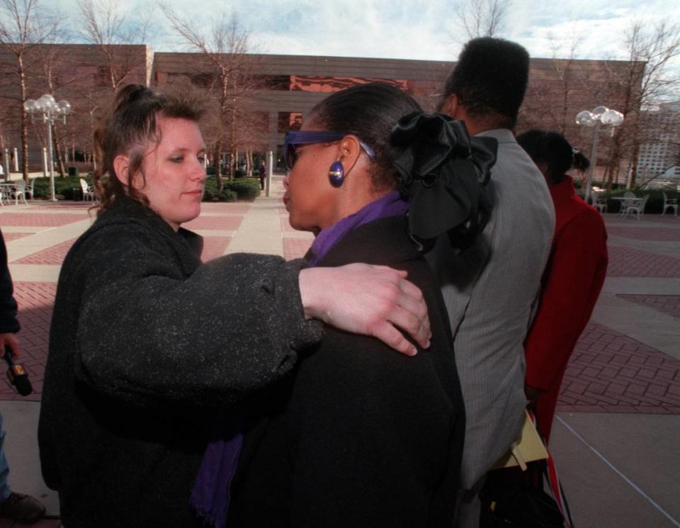
[[[576,195],[565,174],[572,166],[588,167],[588,159],[580,153],[574,159],[572,146],[556,132],[530,130],[517,142],[545,176],[555,205],[553,247],[538,312],[524,342],[525,390],[548,442],[567,362],[604,283],[607,232],[601,215]]]

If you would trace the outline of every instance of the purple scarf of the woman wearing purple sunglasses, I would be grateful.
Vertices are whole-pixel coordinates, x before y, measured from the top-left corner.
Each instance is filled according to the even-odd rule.
[[[316,266],[330,249],[348,232],[358,226],[385,218],[402,216],[409,203],[402,200],[398,191],[387,193],[369,203],[358,213],[346,216],[339,222],[319,232],[310,248],[310,266]],[[230,488],[243,447],[243,434],[234,415],[220,412],[205,448],[203,461],[198,468],[189,504],[205,524],[223,528],[229,511]]]

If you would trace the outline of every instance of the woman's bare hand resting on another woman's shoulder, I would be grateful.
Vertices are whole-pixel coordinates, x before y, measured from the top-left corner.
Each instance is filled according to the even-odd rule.
[[[431,332],[423,294],[406,276],[406,271],[368,264],[303,269],[300,296],[305,317],[376,337],[414,356],[416,347],[399,329],[423,348],[429,347]]]

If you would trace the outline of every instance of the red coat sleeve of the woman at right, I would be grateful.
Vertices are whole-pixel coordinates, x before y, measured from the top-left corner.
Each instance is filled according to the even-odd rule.
[[[547,391],[565,369],[606,275],[604,222],[594,210],[557,234],[533,325],[525,341],[526,385]]]

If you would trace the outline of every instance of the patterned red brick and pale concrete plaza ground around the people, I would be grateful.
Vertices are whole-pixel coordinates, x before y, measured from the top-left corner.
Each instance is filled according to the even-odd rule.
[[[251,251],[300,257],[312,242],[280,203],[207,203],[187,228],[204,237],[203,259]],[[82,203],[35,201],[0,208],[20,303],[23,364],[35,394],[0,382],[10,483],[58,514],[40,478],[36,424],[55,283],[70,245],[92,221]],[[610,275],[565,376],[552,451],[578,528],[680,527],[680,220],[607,215]],[[0,528],[11,524],[0,520]],[[57,527],[46,521],[40,526]]]

